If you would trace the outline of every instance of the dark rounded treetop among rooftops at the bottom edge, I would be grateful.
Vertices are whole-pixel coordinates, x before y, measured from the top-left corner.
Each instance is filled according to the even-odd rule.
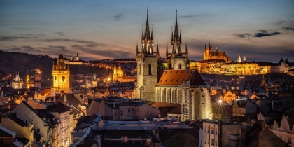
[[[168,147],[178,147],[178,146],[186,146],[186,147],[195,147],[198,146],[197,140],[190,134],[187,133],[179,133],[177,132],[165,141],[165,145]]]

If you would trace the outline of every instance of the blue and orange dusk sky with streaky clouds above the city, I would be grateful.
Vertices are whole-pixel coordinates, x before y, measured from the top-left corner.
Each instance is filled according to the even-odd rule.
[[[202,60],[204,45],[248,62],[294,61],[294,1],[1,1],[0,50],[80,59],[135,57],[148,19],[165,57],[172,50],[176,8],[189,58]],[[141,45],[139,45],[140,47]],[[140,50],[141,48],[139,48]],[[155,51],[155,50],[153,50]]]

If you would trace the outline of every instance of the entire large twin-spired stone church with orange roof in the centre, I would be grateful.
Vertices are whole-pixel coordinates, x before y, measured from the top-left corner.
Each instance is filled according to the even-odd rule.
[[[212,118],[209,86],[200,73],[189,68],[188,47],[182,52],[182,38],[176,23],[172,32],[172,52],[167,46],[167,67],[162,68],[158,45],[153,51],[153,31],[149,29],[148,10],[141,52],[137,44],[137,82],[135,97],[149,102],[181,104],[181,121]]]

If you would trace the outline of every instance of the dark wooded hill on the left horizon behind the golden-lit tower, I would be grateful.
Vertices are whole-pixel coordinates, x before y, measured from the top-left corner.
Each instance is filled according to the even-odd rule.
[[[20,52],[6,52],[0,50],[0,78],[12,74],[15,76],[16,72],[20,72],[20,78],[25,80],[27,71],[29,75],[34,75],[34,69],[41,69],[42,79],[52,78],[52,62],[57,59],[52,59],[48,55],[31,55],[27,53]],[[71,70],[71,75],[74,74],[90,74],[97,73],[97,77],[104,76],[105,73],[110,73],[111,71],[99,68],[96,66],[86,66],[86,65],[71,65],[69,66]]]

